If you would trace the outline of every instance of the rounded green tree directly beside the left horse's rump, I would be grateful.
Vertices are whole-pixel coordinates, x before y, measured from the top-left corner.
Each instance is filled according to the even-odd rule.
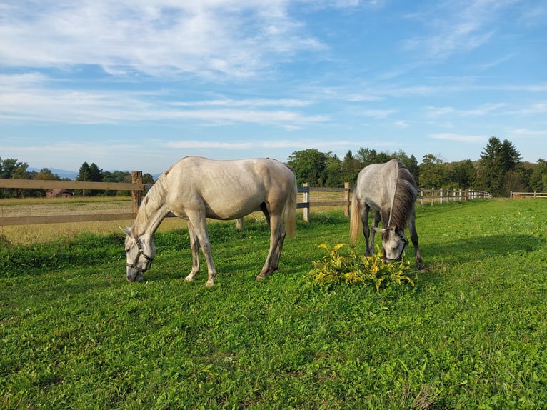
[[[287,164],[293,167],[298,185],[305,182],[311,186],[325,184],[327,155],[323,152],[314,148],[294,151],[288,156]]]

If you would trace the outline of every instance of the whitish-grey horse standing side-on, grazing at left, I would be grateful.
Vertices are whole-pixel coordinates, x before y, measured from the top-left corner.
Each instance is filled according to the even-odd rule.
[[[216,269],[206,218],[239,219],[261,209],[270,226],[270,250],[256,279],[278,269],[285,235],[296,232],[296,177],[294,170],[275,159],[214,161],[186,156],[167,169],[144,197],[126,234],[127,280],[142,281],[156,255],[154,233],[171,212],[188,221],[192,269],[186,281],[199,272],[199,248],[207,261],[214,285]],[[284,226],[283,226],[284,224]],[[286,229],[286,231],[285,231]]]

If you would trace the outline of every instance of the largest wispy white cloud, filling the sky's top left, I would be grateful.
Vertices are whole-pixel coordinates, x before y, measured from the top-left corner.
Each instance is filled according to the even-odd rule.
[[[284,0],[11,1],[0,19],[4,66],[96,65],[110,74],[253,76],[325,49]]]

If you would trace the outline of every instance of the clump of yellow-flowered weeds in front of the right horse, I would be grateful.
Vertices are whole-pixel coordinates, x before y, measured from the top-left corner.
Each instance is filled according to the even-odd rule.
[[[354,249],[344,248],[345,244],[337,244],[331,249],[326,244],[318,248],[325,249],[327,254],[319,261],[312,261],[313,269],[309,271],[309,278],[313,283],[321,286],[333,286],[338,283],[347,285],[373,284],[376,291],[380,291],[382,284],[408,283],[414,286],[414,281],[406,272],[410,270],[410,261],[403,257],[399,261],[384,263],[379,246],[372,256],[358,254]]]

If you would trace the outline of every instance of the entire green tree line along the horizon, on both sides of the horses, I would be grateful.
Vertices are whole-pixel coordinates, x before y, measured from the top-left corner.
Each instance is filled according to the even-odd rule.
[[[418,187],[424,189],[480,189],[493,196],[508,196],[510,191],[547,191],[547,161],[536,164],[522,161],[521,154],[511,141],[501,141],[496,136],[488,139],[480,159],[444,162],[433,154],[424,155],[420,164],[415,156],[403,150],[393,153],[360,148],[355,154],[348,151],[343,159],[331,152],[317,149],[294,151],[287,164],[296,172],[298,185],[340,187],[344,182],[353,186],[361,169],[370,164],[387,162],[396,158],[408,166]],[[1,159],[0,178],[61,180],[59,175],[44,168],[28,171],[29,165],[17,159]],[[66,179],[69,180],[69,179]],[[84,162],[76,181],[131,182],[127,171],[103,171],[94,163]],[[151,174],[143,174],[144,184],[153,184]],[[129,191],[74,191],[75,196],[126,196]],[[0,189],[0,197],[45,196],[44,189]]]

